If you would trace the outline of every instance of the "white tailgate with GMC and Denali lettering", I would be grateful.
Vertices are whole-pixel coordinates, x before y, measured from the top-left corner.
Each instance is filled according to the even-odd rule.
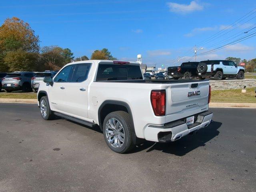
[[[167,84],[166,123],[208,110],[209,82]]]

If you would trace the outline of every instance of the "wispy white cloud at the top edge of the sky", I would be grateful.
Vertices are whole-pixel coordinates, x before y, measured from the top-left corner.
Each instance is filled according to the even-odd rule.
[[[200,11],[204,9],[203,5],[199,5],[195,1],[191,1],[190,4],[178,4],[169,2],[167,3],[168,7],[170,8],[170,12],[174,13],[180,13],[180,14],[186,14],[194,11]]]

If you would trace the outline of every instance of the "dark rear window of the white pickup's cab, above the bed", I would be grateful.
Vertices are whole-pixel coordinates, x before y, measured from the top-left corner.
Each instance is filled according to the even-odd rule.
[[[96,81],[143,79],[140,66],[99,64]]]

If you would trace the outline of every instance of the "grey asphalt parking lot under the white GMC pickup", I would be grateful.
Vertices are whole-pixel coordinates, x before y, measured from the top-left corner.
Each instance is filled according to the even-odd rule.
[[[45,121],[36,104],[0,104],[0,191],[256,191],[256,109],[212,108],[174,143],[112,152],[98,128]]]

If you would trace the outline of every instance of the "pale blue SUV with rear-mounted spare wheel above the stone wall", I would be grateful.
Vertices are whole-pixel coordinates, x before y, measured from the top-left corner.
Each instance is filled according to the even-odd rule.
[[[227,77],[244,79],[244,68],[228,60],[200,61],[197,73],[199,79],[206,77],[214,77],[214,80],[222,80]]]

